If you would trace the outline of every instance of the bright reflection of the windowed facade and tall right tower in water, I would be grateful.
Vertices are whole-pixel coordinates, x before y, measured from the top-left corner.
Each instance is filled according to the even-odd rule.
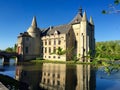
[[[40,86],[49,90],[95,90],[95,73],[90,65],[68,67],[43,64]],[[91,81],[92,80],[92,81]]]

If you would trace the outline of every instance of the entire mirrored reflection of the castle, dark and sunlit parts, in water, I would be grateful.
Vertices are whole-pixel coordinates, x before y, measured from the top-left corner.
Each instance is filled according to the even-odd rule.
[[[16,79],[27,83],[30,90],[95,90],[95,78],[90,65],[44,63],[16,69]]]

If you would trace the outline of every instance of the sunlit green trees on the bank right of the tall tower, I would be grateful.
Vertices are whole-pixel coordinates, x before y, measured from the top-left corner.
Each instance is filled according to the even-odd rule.
[[[102,60],[120,59],[120,41],[97,42],[95,57]]]

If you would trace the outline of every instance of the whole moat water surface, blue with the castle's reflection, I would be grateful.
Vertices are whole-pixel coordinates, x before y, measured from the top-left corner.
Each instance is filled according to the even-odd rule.
[[[102,68],[96,70],[90,65],[66,65],[25,63],[3,67],[0,73],[23,81],[30,90],[120,90],[120,71],[110,75]]]

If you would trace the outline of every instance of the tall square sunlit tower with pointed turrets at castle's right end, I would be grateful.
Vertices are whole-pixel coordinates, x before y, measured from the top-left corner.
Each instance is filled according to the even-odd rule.
[[[80,61],[89,62],[86,56],[90,51],[93,56],[95,50],[93,19],[90,17],[88,22],[86,12],[82,14],[82,8],[80,8],[71,24],[75,38],[74,53]]]

